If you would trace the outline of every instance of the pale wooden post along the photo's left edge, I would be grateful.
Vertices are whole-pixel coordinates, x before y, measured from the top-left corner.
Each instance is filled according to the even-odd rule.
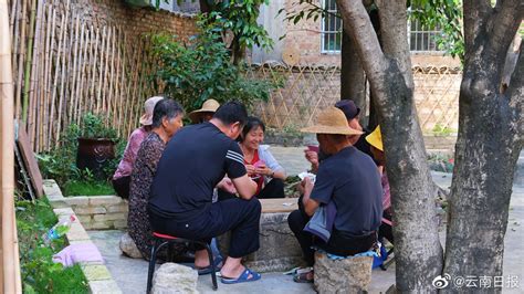
[[[14,87],[7,0],[0,0],[0,183],[2,209],[0,286],[3,293],[22,293],[14,221]]]

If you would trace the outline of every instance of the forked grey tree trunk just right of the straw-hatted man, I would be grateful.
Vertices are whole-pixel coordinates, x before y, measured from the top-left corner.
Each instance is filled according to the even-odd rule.
[[[406,1],[376,1],[382,50],[360,1],[338,0],[376,95],[394,209],[397,288],[431,292],[442,269],[432,181],[412,93]],[[386,8],[387,6],[387,8]]]

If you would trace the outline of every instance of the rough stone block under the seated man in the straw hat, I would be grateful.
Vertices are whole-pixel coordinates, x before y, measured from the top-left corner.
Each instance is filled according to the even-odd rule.
[[[373,258],[331,260],[315,253],[314,279],[318,293],[365,293],[371,283]]]

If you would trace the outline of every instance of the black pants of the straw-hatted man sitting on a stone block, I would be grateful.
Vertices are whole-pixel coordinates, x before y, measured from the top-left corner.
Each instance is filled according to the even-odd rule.
[[[302,200],[302,197],[300,199]],[[329,241],[325,243],[313,234],[303,231],[310,217],[307,217],[303,210],[295,210],[287,217],[290,229],[298,240],[304,260],[308,266],[313,266],[315,262],[315,251],[311,249],[312,245],[316,245],[332,254],[348,256],[368,251],[377,241],[376,233],[364,237],[352,237],[333,229]]]

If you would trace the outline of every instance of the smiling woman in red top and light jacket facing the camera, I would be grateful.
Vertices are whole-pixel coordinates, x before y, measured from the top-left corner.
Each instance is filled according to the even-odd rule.
[[[270,153],[269,146],[261,145],[264,133],[265,126],[262,120],[252,116],[248,117],[239,137],[245,169],[251,179],[256,182],[256,198],[284,198],[285,170]],[[234,195],[219,190],[219,200],[232,197]]]

